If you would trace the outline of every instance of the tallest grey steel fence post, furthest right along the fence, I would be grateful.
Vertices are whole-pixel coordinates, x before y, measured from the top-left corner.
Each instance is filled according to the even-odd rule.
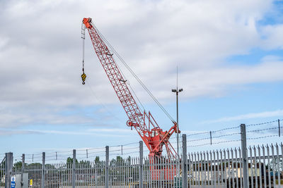
[[[248,188],[248,157],[247,157],[247,136],[246,125],[241,124],[241,147],[243,157],[243,188]]]

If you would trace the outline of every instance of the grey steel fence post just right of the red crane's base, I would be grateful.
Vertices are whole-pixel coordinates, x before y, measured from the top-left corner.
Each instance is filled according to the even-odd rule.
[[[182,134],[182,187],[187,188],[187,135]]]

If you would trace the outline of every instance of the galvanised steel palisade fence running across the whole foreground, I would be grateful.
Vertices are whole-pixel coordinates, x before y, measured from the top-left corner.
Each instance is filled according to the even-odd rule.
[[[241,147],[187,153],[187,136],[182,137],[180,161],[172,158],[139,157],[77,161],[64,163],[13,164],[13,153],[6,153],[0,165],[0,187],[10,188],[13,175],[28,174],[28,187],[283,187],[283,145],[246,147],[246,125],[241,125]],[[178,169],[180,169],[178,171]]]

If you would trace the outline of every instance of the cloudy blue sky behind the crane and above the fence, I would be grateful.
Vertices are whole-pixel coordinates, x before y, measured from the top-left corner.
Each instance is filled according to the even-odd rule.
[[[283,119],[283,1],[4,0],[0,158],[8,151],[20,158],[72,149],[96,156],[106,145],[114,156],[120,145],[124,153],[138,151],[141,139],[126,126],[88,35],[81,84],[81,21],[88,17],[174,119],[178,67],[179,125],[188,150],[241,146],[239,125]],[[171,120],[114,58],[146,111],[169,130]],[[247,127],[248,144],[281,142],[278,130],[267,130],[276,126]],[[227,127],[236,128],[214,132]],[[191,139],[210,131],[213,142],[223,143],[197,146],[210,142],[207,134]],[[219,138],[224,134],[233,135]]]

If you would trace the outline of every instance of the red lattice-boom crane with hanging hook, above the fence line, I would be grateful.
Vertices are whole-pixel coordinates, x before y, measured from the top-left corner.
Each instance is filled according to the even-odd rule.
[[[108,49],[110,46],[105,44],[103,36],[91,22],[91,18],[83,18],[82,23],[82,38],[85,39],[85,30],[88,30],[89,36],[91,37],[91,42],[93,43],[96,55],[108,76],[113,89],[115,90],[118,99],[120,100],[129,120],[127,120],[127,126],[134,127],[137,133],[146,144],[149,149],[150,157],[161,157],[163,146],[166,147],[168,158],[175,158],[177,153],[173,149],[173,146],[169,142],[169,138],[174,132],[177,132],[177,123],[173,121],[173,127],[168,131],[163,131],[161,127],[158,126],[156,120],[154,120],[151,113],[141,113],[139,106],[137,105],[134,97],[132,96],[129,88],[127,87],[127,80],[122,76],[117,64],[115,63],[112,53]],[[84,42],[84,40],[83,40]],[[83,62],[84,63],[84,62]],[[81,75],[84,81],[86,80],[86,75]]]

